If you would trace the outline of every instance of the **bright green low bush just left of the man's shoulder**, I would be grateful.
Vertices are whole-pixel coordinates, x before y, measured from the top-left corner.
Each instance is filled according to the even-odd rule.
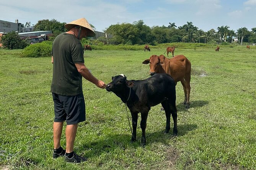
[[[31,44],[24,48],[23,57],[51,57],[52,42],[44,41],[41,43]]]

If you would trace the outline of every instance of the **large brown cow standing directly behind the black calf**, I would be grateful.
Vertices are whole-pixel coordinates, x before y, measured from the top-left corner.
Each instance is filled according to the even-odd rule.
[[[189,108],[190,96],[190,78],[191,78],[191,63],[184,55],[178,55],[171,59],[164,55],[152,55],[150,59],[143,61],[143,64],[149,64],[150,75],[155,73],[167,73],[173,77],[175,85],[181,81],[184,90],[184,103],[186,109]]]

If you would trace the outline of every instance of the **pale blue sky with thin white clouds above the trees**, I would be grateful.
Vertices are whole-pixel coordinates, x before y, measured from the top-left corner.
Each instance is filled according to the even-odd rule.
[[[5,0],[0,6],[0,20],[36,24],[41,19],[68,23],[86,18],[98,31],[138,20],[150,27],[189,21],[204,31],[256,27],[256,0]]]

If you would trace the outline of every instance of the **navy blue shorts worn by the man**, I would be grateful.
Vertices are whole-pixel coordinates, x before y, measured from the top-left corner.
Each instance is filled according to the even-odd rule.
[[[52,93],[54,101],[54,122],[64,122],[67,125],[85,121],[85,99],[83,94],[62,96]]]

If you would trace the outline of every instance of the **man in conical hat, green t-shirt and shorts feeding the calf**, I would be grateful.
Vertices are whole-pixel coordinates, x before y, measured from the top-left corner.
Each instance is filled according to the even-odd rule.
[[[85,101],[82,90],[82,77],[99,88],[106,84],[96,79],[85,67],[83,37],[94,37],[95,32],[85,18],[65,24],[68,32],[58,35],[52,44],[53,76],[51,92],[54,101],[53,158],[64,156],[67,162],[80,163],[86,160],[74,151],[74,141],[79,122],[85,121]],[[65,131],[66,150],[60,146],[63,122],[67,122]]]

